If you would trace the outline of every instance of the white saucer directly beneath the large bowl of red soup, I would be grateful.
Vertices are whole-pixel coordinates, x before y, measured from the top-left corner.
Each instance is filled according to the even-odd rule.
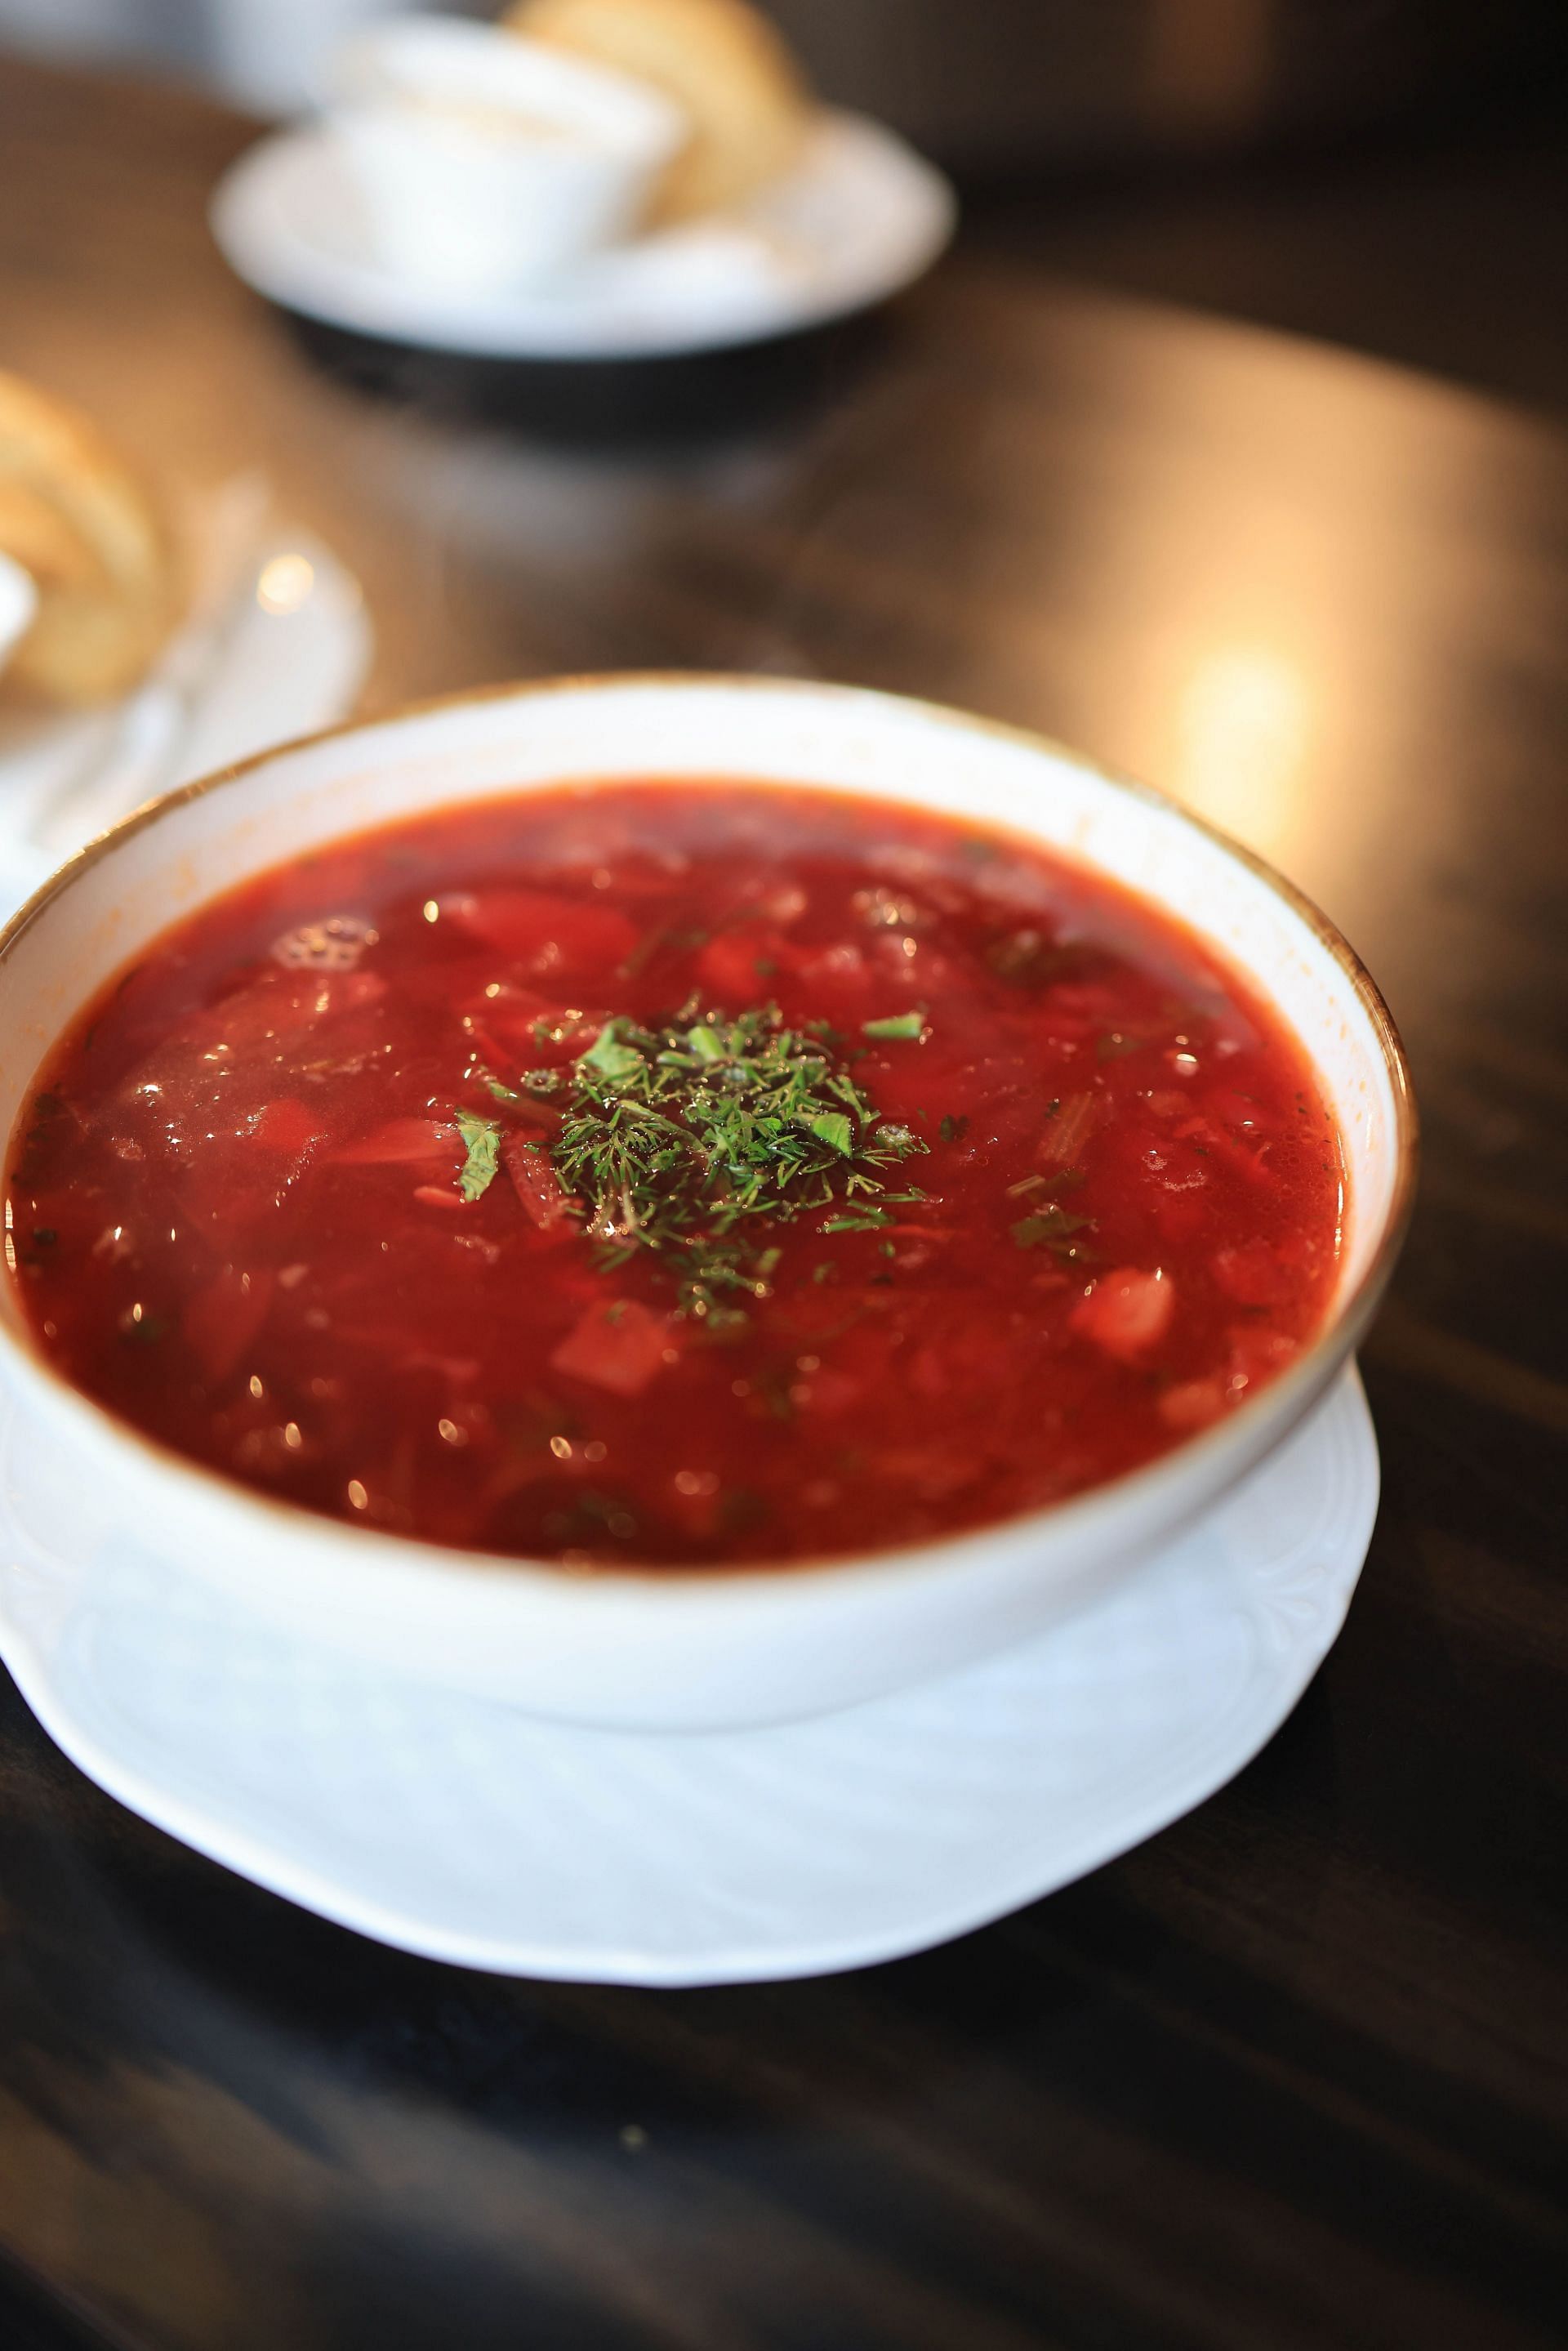
[[[1378,1512],[1349,1366],[1208,1519],[1032,1646],[806,1723],[630,1735],[289,1641],[141,1531],[66,1563],[80,1495],[5,1411],[0,1653],[99,1787],[381,1942],[578,1982],[858,1968],[1112,1860],[1279,1728]]]

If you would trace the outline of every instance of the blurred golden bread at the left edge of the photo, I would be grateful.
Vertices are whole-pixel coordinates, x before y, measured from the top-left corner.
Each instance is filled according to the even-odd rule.
[[[7,684],[61,703],[125,694],[176,614],[169,536],[99,428],[0,371],[0,550],[38,585]]]

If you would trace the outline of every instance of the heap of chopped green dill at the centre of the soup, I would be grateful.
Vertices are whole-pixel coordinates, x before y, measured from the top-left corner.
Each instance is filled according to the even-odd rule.
[[[550,1150],[602,1262],[651,1251],[682,1312],[712,1324],[738,1317],[736,1295],[766,1295],[778,1265],[778,1248],[743,1234],[750,1218],[842,1204],[846,1223],[827,1230],[870,1230],[889,1223],[870,1197],[924,1197],[884,1194],[882,1180],[926,1150],[919,1136],[879,1121],[825,1034],[785,1027],[776,1004],[733,1020],[696,1002],[661,1027],[607,1020],[569,1072],[527,1072],[522,1089],[538,1074],[569,1086]]]

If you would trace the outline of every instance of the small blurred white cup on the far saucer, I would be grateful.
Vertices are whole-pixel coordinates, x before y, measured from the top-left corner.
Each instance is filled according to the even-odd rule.
[[[463,292],[536,284],[625,237],[684,139],[642,82],[447,16],[357,35],[329,89],[378,261]]]

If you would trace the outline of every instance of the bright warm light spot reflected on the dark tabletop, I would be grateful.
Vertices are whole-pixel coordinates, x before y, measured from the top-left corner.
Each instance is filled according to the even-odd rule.
[[[1211,825],[1276,856],[1307,752],[1302,672],[1265,647],[1232,644],[1192,670],[1175,717],[1175,790]]]

